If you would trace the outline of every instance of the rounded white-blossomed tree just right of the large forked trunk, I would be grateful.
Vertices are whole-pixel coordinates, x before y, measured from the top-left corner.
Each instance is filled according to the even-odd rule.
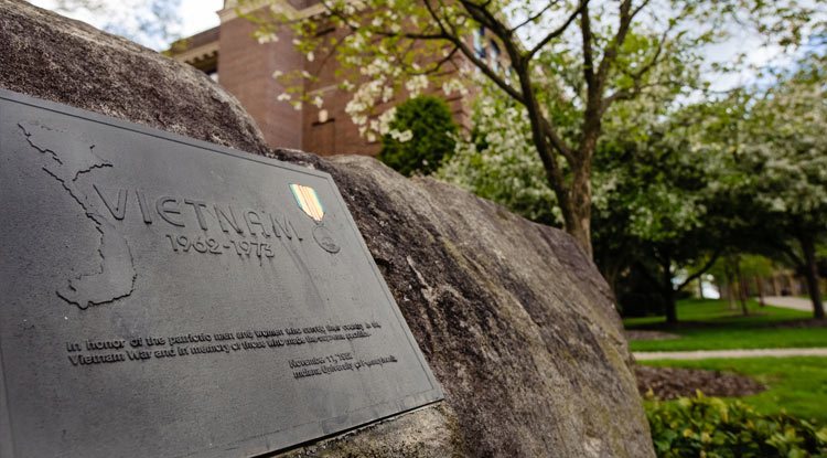
[[[720,151],[698,143],[696,108],[647,124],[637,138],[619,131],[595,157],[595,262],[615,289],[630,275],[648,278],[668,323],[678,321],[679,294],[715,264],[738,227]],[[617,291],[621,305],[627,292],[636,294]]]

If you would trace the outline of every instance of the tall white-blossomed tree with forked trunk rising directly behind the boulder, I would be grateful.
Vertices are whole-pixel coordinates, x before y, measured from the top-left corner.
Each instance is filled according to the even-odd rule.
[[[679,90],[696,51],[717,36],[722,3],[322,0],[344,36],[320,34],[324,21],[296,18],[279,3],[257,20],[260,41],[290,25],[308,58],[334,53],[352,70],[342,74],[343,87],[355,90],[347,110],[367,136],[385,134],[389,117],[372,118],[375,107],[402,88],[417,95],[437,84],[448,93],[472,76],[491,82],[528,120],[565,227],[591,254],[592,160],[604,116],[619,102]],[[321,103],[301,92],[284,98]]]

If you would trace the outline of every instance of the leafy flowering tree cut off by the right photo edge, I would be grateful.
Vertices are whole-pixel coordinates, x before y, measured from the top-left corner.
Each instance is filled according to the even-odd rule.
[[[824,319],[817,246],[827,237],[827,62],[809,54],[792,74],[758,92],[732,142],[753,199],[756,225],[807,280],[814,316]]]

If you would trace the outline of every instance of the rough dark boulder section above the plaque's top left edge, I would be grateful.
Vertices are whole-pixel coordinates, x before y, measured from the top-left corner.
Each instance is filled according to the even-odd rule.
[[[0,86],[250,152],[253,118],[203,72],[22,1],[0,1]]]

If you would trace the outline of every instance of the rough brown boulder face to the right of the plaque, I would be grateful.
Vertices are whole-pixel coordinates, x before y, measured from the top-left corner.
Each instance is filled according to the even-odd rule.
[[[651,456],[610,290],[571,237],[369,158],[273,153],[333,175],[469,456]]]

